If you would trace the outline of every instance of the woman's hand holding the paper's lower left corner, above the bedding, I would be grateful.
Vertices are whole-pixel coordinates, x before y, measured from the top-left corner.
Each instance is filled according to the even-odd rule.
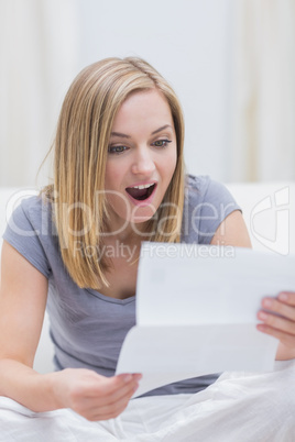
[[[56,408],[72,408],[90,421],[119,416],[141,379],[140,374],[105,377],[85,368],[66,368],[51,375]]]

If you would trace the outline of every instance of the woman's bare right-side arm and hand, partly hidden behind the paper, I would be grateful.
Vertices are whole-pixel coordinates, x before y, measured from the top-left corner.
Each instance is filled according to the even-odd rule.
[[[250,237],[239,211],[230,213],[217,229],[211,244],[251,247]],[[278,339],[276,360],[295,358],[295,292],[278,294],[276,299],[263,298],[258,318],[263,322],[258,330]],[[274,313],[263,311],[267,309]]]

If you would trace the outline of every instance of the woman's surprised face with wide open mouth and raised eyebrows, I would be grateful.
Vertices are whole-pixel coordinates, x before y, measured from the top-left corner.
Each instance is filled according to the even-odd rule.
[[[177,161],[170,106],[156,89],[134,92],[120,107],[111,131],[105,188],[113,225],[153,217]]]

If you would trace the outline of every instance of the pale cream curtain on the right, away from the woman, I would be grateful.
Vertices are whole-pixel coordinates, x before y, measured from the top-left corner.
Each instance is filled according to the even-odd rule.
[[[230,179],[295,179],[295,0],[233,9]]]

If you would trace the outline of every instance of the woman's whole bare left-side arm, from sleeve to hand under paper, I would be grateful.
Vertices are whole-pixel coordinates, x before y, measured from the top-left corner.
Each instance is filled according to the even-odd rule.
[[[47,279],[6,241],[0,287],[0,396],[33,411],[72,408],[89,420],[127,407],[139,376],[106,378],[88,369],[41,375],[33,367],[47,299]]]

